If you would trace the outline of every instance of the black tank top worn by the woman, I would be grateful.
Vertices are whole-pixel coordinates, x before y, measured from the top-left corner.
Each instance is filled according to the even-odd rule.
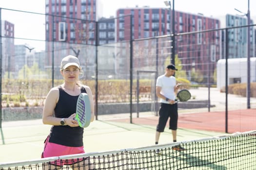
[[[71,96],[66,93],[61,86],[59,87],[59,101],[54,109],[56,118],[68,118],[76,113],[77,101],[79,96]],[[82,86],[81,93],[86,93]],[[52,126],[49,142],[70,146],[83,146],[83,128],[66,126]]]

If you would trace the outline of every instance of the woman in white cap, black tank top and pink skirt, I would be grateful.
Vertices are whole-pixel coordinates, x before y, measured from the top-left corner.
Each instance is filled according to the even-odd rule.
[[[83,128],[79,127],[76,116],[76,105],[80,93],[87,93],[91,106],[91,122],[94,120],[94,102],[90,87],[79,83],[81,66],[79,59],[68,55],[60,64],[60,73],[64,83],[53,87],[45,100],[42,121],[53,125],[50,135],[45,140],[42,158],[68,154],[85,153],[83,148]],[[51,162],[54,166],[72,165],[81,160]],[[87,160],[87,163],[89,161]],[[88,168],[88,166],[87,166]]]

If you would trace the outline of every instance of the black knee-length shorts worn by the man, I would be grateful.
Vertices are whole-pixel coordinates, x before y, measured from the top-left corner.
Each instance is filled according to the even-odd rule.
[[[157,131],[163,132],[166,122],[170,117],[169,121],[169,129],[177,130],[177,121],[178,121],[178,104],[167,104],[161,103],[159,109],[159,119],[158,119],[158,126]]]

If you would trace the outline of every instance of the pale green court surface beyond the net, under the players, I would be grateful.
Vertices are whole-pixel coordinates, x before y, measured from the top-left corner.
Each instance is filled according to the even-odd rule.
[[[50,132],[50,125],[41,119],[2,122],[0,136],[0,163],[39,159],[43,142]],[[155,144],[156,126],[95,120],[84,129],[86,153],[105,152]],[[188,141],[223,133],[178,129],[177,140]],[[171,130],[165,128],[159,144],[171,143]]]

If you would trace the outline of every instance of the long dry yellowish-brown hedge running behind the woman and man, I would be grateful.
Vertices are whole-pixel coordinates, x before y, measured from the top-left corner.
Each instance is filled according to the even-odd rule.
[[[83,85],[88,85],[95,97],[95,80],[80,80]],[[55,85],[61,85],[63,80],[54,80]],[[153,79],[141,79],[139,80],[139,87],[141,92],[146,94],[147,99],[150,100],[152,94],[155,93],[155,89],[152,89],[152,85],[155,85]],[[181,88],[190,88],[190,81],[177,78],[177,83],[181,83]],[[43,101],[46,98],[49,90],[52,88],[52,81],[45,80],[16,80],[5,79],[2,82],[2,102],[3,106],[39,106],[43,105]],[[153,91],[154,90],[154,91]],[[133,101],[137,100],[137,80],[133,82]],[[130,101],[130,80],[98,80],[98,102],[129,102]]]

